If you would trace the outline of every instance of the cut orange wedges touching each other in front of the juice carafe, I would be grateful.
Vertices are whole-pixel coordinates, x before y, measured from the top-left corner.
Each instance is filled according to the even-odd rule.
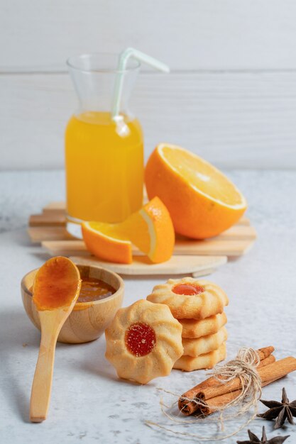
[[[124,222],[84,222],[82,235],[92,254],[124,264],[132,262],[132,243],[156,263],[169,260],[175,245],[170,214],[158,197]]]

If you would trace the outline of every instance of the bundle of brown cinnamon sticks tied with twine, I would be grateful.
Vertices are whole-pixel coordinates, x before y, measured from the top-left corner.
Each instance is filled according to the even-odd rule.
[[[261,377],[262,387],[296,370],[295,357],[285,357],[284,359],[276,361],[272,354],[274,350],[272,346],[257,350],[260,362],[256,369]],[[204,382],[182,394],[178,406],[182,414],[186,416],[196,411],[207,416],[236,399],[240,392],[241,380],[239,377],[227,383],[220,382],[215,377],[209,377]],[[194,400],[202,401],[202,406],[194,402]]]

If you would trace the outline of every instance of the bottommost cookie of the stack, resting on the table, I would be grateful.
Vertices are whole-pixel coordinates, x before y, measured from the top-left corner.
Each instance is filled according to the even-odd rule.
[[[184,370],[185,372],[192,372],[192,370],[211,369],[217,362],[223,361],[226,358],[226,343],[220,345],[217,350],[199,355],[197,357],[183,355],[177,362],[175,362],[175,369]]]

